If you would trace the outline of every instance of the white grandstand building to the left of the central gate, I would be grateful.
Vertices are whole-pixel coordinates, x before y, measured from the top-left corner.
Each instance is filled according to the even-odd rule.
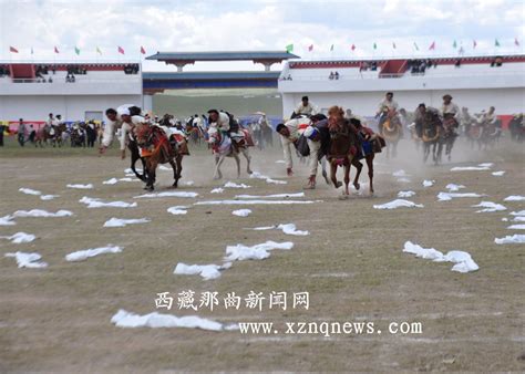
[[[66,82],[74,69],[74,82]],[[101,121],[122,104],[144,105],[137,63],[0,63],[0,121],[39,123],[49,113],[65,122]]]

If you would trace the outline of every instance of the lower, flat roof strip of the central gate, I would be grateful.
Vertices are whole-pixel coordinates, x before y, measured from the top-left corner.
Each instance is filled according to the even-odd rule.
[[[144,81],[276,80],[280,72],[144,72]]]

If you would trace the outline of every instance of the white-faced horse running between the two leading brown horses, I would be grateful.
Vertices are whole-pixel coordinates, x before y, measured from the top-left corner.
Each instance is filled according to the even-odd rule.
[[[237,164],[237,178],[240,177],[240,159],[239,153],[241,153],[247,162],[246,173],[251,174],[250,162],[251,156],[249,154],[248,147],[254,145],[251,136],[246,129],[240,129],[245,134],[245,138],[240,142],[231,142],[229,136],[224,136],[220,131],[216,127],[208,128],[208,144],[212,146],[212,152],[215,155],[215,173],[214,179],[223,178],[223,173],[220,172],[220,165],[226,157],[233,157]]]

